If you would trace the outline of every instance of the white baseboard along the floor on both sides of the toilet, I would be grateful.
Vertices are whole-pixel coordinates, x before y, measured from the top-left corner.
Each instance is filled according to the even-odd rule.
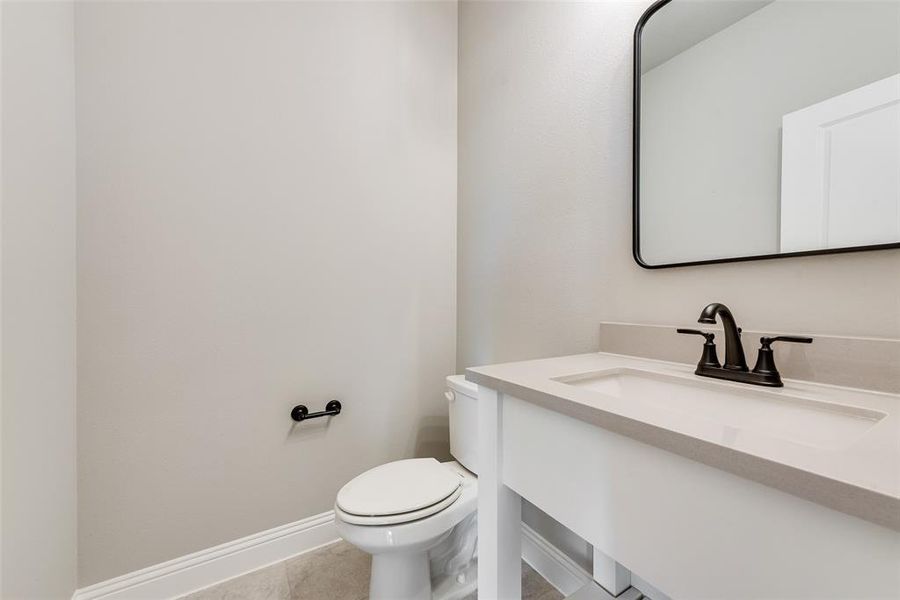
[[[275,527],[75,591],[72,600],[168,600],[339,539],[334,511]],[[522,523],[522,558],[563,595],[591,574]]]

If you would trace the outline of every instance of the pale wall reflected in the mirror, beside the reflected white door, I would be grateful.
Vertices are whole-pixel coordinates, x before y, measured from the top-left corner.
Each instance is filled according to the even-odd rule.
[[[644,39],[671,38],[679,9]],[[898,72],[900,3],[781,0],[644,73],[643,258],[778,252],[782,116]]]

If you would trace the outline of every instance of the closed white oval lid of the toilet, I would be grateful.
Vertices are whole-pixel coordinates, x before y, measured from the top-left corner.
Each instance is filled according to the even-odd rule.
[[[379,517],[420,511],[457,492],[462,480],[433,458],[398,460],[369,469],[341,488],[338,507]]]

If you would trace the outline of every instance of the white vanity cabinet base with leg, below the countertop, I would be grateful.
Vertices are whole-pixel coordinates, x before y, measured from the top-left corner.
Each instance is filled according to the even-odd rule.
[[[900,598],[900,532],[758,483],[771,477],[752,472],[766,461],[723,446],[725,460],[745,461],[735,470],[748,476],[736,475],[690,444],[640,441],[653,436],[647,423],[631,435],[618,419],[614,432],[596,406],[564,414],[546,389],[513,395],[474,378],[479,598],[520,597],[522,498],[673,599]]]

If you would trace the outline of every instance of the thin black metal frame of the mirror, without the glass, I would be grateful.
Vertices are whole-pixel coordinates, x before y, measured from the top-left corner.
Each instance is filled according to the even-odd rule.
[[[632,254],[635,262],[645,269],[669,269],[672,267],[693,267],[697,265],[713,265],[729,262],[746,262],[750,260],[769,260],[773,258],[792,258],[795,256],[815,256],[820,254],[843,254],[846,252],[865,252],[869,250],[891,250],[900,248],[900,242],[890,244],[874,244],[871,246],[850,246],[846,248],[825,248],[822,250],[804,250],[802,252],[783,252],[776,254],[758,254],[753,256],[737,256],[734,258],[714,258],[709,260],[695,260],[679,263],[665,263],[651,265],[641,258],[640,235],[640,157],[641,157],[641,33],[644,25],[659,9],[673,0],[657,0],[650,8],[644,11],[634,28],[634,80],[633,85],[633,110],[632,117]]]

